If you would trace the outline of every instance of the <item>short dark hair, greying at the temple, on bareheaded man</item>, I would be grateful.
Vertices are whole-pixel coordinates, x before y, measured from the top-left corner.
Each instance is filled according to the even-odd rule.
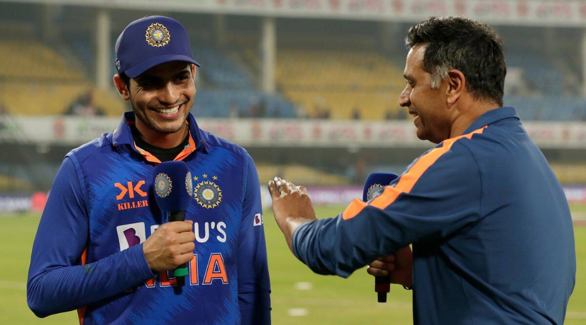
[[[407,49],[427,44],[423,64],[433,88],[454,68],[462,71],[476,99],[503,105],[507,67],[502,40],[492,27],[462,17],[430,17],[409,29],[405,44]]]

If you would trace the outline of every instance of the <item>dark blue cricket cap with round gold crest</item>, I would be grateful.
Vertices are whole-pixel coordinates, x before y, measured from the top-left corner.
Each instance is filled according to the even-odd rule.
[[[177,20],[165,16],[146,16],[134,20],[116,40],[115,65],[118,74],[136,78],[155,65],[193,60],[189,36]]]

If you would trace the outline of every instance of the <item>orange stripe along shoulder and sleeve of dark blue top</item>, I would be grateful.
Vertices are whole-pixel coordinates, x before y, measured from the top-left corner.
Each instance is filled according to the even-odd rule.
[[[384,209],[391,205],[401,193],[409,193],[411,189],[413,189],[413,186],[415,186],[415,183],[421,178],[421,175],[423,175],[423,173],[427,171],[427,169],[430,168],[431,165],[433,165],[442,155],[447,153],[456,141],[462,138],[472,139],[474,134],[481,134],[486,127],[487,126],[484,126],[468,134],[445,140],[441,147],[434,148],[427,154],[421,156],[405,174],[401,175],[401,178],[399,178],[399,181],[395,186],[386,186],[383,193],[370,201],[370,203],[367,204],[362,200],[354,199],[342,213],[342,219],[352,219],[368,205],[375,206],[379,209]]]

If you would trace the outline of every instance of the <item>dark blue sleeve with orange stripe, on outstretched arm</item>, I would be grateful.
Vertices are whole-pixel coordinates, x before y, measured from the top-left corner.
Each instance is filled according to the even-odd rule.
[[[355,199],[338,217],[302,224],[293,236],[295,256],[318,274],[347,277],[377,257],[442,240],[479,220],[478,164],[463,144],[446,146],[422,155],[370,202]]]

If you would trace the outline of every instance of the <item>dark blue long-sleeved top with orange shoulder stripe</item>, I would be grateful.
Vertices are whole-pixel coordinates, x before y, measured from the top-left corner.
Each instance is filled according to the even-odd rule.
[[[570,210],[513,108],[486,112],[370,202],[293,238],[313,271],[344,277],[408,244],[416,324],[563,323],[576,272]]]

